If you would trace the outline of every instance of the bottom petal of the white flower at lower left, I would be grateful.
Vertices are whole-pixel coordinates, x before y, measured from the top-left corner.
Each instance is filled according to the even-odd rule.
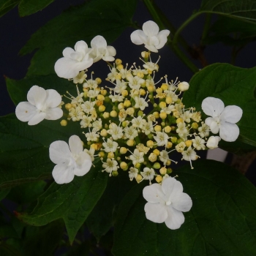
[[[65,164],[55,165],[53,168],[53,178],[58,184],[65,184],[75,177],[73,167]]]

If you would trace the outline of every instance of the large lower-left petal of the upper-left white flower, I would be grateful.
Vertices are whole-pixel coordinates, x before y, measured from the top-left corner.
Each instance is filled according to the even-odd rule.
[[[54,70],[59,78],[75,78],[79,73],[79,70],[76,69],[75,64],[77,64],[77,61],[69,58],[61,58],[56,61],[56,64],[54,65]]]

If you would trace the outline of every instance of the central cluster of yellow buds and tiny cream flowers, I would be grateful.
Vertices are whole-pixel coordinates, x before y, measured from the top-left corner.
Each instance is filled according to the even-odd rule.
[[[100,78],[87,80],[81,71],[73,82],[78,96],[66,96],[71,102],[67,120],[79,121],[84,129],[86,153],[92,161],[99,157],[102,172],[117,176],[118,169],[128,170],[129,178],[138,183],[155,178],[158,183],[172,172],[172,151],[190,162],[198,158],[196,151],[207,148],[209,127],[195,108],[185,108],[182,92],[189,83],[168,81],[167,75],[155,81],[158,61],[151,61],[149,52],[141,54],[143,67],[122,64],[116,59],[110,66],[106,82]],[[78,89],[83,83],[83,92]],[[61,121],[66,125],[67,121]],[[193,168],[193,167],[192,167]]]

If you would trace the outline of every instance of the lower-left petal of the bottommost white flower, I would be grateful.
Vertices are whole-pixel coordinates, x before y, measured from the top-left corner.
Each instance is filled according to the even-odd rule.
[[[146,203],[144,207],[146,218],[151,222],[162,223],[167,219],[166,208],[162,203]]]

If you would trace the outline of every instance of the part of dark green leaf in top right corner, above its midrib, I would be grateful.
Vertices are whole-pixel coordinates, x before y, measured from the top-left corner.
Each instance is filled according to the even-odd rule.
[[[255,0],[203,0],[200,12],[211,12],[256,21]]]

